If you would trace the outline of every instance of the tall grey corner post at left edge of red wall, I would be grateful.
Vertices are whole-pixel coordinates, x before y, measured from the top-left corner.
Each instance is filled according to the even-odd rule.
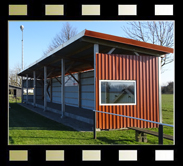
[[[99,53],[99,44],[94,44],[93,56],[94,56],[94,110],[96,110],[96,97],[95,97],[95,90],[96,90],[96,53]],[[94,139],[97,138],[96,135],[96,112],[94,111]]]

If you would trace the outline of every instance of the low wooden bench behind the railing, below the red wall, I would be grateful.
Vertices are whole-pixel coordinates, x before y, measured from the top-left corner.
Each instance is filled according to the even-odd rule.
[[[138,128],[138,127],[128,127],[128,128],[135,130],[135,139],[138,142],[147,142],[146,134],[154,135],[157,137],[159,136],[159,133],[156,131],[146,130],[146,129]],[[172,135],[163,134],[163,138],[166,138],[166,139],[173,141]]]

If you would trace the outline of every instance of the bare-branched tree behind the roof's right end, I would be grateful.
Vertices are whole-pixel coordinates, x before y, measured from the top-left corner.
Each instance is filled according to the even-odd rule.
[[[138,21],[127,24],[129,26],[123,26],[122,29],[131,39],[165,47],[174,46],[174,24],[172,21]],[[161,58],[161,66],[171,62],[173,62],[172,54],[166,54]]]

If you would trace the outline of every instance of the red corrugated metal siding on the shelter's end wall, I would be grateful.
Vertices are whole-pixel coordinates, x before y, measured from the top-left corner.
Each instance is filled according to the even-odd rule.
[[[99,80],[136,80],[136,105],[99,105]],[[158,57],[96,54],[96,109],[159,121]],[[158,125],[96,113],[97,128],[153,128]]]

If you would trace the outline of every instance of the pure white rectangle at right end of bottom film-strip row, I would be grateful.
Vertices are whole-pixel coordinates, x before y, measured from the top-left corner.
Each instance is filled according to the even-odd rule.
[[[155,150],[155,161],[173,161],[173,150]]]

